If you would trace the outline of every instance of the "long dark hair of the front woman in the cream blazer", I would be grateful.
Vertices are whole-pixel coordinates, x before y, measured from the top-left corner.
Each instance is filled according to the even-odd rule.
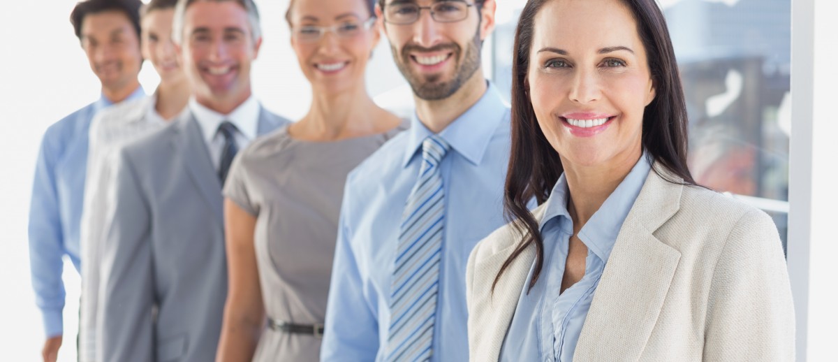
[[[530,245],[535,246],[535,271],[529,288],[535,286],[544,266],[544,240],[538,221],[527,204],[535,198],[543,204],[564,168],[556,150],[541,132],[525,79],[530,67],[535,15],[551,0],[530,0],[521,13],[515,29],[515,59],[512,64],[512,152],[504,186],[504,214],[522,235],[512,255],[504,261],[494,278],[492,289],[515,258]],[[640,40],[649,59],[649,71],[655,89],[654,100],[643,115],[642,144],[649,158],[679,179],[661,174],[677,184],[696,184],[687,168],[687,116],[684,91],[675,62],[669,30],[664,14],[654,0],[623,0],[637,22]]]

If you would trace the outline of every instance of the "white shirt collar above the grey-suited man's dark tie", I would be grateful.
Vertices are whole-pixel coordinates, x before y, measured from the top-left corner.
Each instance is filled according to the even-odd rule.
[[[224,121],[232,122],[248,140],[256,138],[260,106],[254,96],[247,98],[247,101],[241,103],[230,114],[226,115],[207,108],[196,101],[195,97],[191,97],[189,98],[189,111],[192,111],[195,120],[198,121],[201,132],[204,133],[204,140],[207,142],[212,142],[215,133],[218,132],[218,127]]]

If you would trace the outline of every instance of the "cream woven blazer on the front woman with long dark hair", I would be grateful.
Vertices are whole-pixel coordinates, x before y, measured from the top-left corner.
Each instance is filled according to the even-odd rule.
[[[614,244],[575,361],[793,361],[794,308],[773,221],[654,169]],[[536,220],[543,214],[543,206],[533,211]],[[510,264],[494,294],[492,283],[519,242],[505,225],[468,259],[472,361],[499,359],[535,246]]]

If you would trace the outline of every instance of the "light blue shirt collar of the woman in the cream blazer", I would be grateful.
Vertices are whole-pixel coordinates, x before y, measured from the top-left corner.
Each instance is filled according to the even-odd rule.
[[[582,226],[582,230],[579,230],[579,239],[585,243],[588,250],[592,251],[603,262],[607,262],[608,257],[611,256],[611,250],[617,241],[620,229],[623,227],[623,221],[629,216],[629,211],[634,206],[634,200],[640,194],[640,189],[643,189],[651,168],[649,155],[644,152],[638,162],[634,164],[634,168],[617,186],[617,189],[614,189],[608,199],[605,199],[603,205],[591,216],[591,219],[587,220],[587,223]],[[556,186],[553,187],[546,204],[539,230],[543,231],[547,221],[558,216],[571,220],[570,214],[567,212],[567,180],[564,173],[561,174]]]

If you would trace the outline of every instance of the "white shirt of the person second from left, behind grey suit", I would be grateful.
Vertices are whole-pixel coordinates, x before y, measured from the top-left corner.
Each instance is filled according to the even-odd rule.
[[[156,110],[157,93],[112,106],[91,121],[84,207],[81,214],[80,361],[96,361],[96,321],[101,242],[110,225],[109,199],[116,175],[116,155],[125,144],[167,125]]]

